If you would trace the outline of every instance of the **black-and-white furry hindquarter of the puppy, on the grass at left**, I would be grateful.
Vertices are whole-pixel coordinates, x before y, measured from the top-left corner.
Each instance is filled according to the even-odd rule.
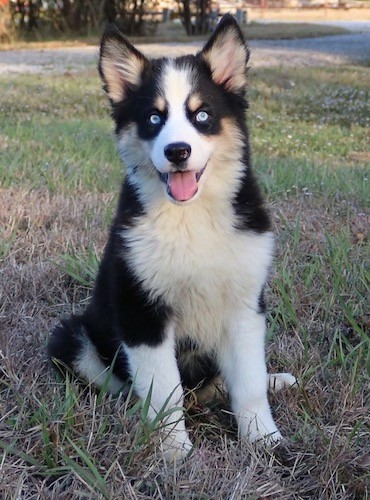
[[[123,381],[102,361],[81,316],[62,320],[51,332],[48,355],[62,373],[72,371],[88,384],[106,386],[112,393],[122,389]]]

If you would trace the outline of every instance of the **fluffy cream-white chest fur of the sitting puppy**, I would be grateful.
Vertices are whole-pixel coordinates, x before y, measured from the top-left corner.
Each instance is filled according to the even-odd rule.
[[[273,237],[233,227],[231,207],[163,203],[123,233],[125,257],[150,299],[176,314],[177,335],[211,347],[233,312],[257,308]]]

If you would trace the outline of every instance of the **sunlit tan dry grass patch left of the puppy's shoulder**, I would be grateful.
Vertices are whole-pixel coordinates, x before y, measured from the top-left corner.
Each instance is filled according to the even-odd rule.
[[[92,242],[101,248],[101,229],[112,198],[107,193],[66,197],[47,190],[0,189],[2,236],[13,240],[8,262],[29,264],[83,250]]]

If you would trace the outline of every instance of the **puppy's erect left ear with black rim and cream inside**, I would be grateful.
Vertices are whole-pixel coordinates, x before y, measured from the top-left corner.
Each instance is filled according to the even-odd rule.
[[[140,85],[147,63],[116,25],[107,27],[100,45],[99,73],[112,103],[124,101],[128,91]]]

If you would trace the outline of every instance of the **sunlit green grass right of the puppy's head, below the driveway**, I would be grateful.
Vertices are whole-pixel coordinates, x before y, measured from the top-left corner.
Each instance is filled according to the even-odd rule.
[[[257,170],[272,198],[350,197],[368,203],[370,69],[255,71],[250,128]],[[252,77],[252,74],[251,74]]]

